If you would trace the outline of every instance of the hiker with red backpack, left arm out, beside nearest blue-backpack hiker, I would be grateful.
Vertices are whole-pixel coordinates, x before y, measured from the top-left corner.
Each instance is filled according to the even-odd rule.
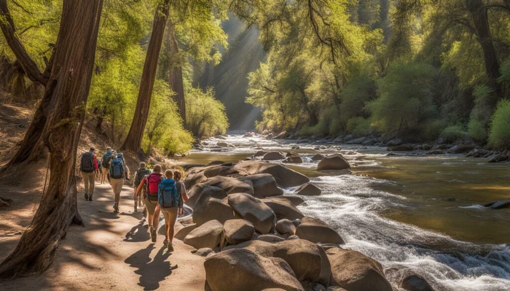
[[[150,238],[153,243],[156,243],[156,231],[159,224],[160,211],[159,207],[157,207],[158,187],[162,178],[163,174],[161,174],[161,165],[154,165],[152,173],[142,178],[135,193],[136,196],[139,196],[143,187],[146,185],[145,192],[143,194],[143,203],[147,209],[147,222],[149,224]],[[158,211],[156,211],[156,208],[158,208]]]

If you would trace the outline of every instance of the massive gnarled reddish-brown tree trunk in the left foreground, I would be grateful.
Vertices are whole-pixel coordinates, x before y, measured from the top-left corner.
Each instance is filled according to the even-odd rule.
[[[76,203],[74,169],[85,117],[103,0],[64,0],[53,68],[43,100],[50,111],[41,139],[48,147],[46,193],[16,249],[0,264],[0,277],[40,273],[52,263],[71,223],[82,224]]]

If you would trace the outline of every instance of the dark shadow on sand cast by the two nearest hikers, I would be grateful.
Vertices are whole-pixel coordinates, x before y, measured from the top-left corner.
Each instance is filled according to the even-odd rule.
[[[150,252],[155,248],[154,244],[150,244],[124,260],[130,267],[138,268],[135,274],[140,275],[138,285],[142,286],[144,290],[158,289],[159,282],[172,274],[172,270],[177,269],[177,265],[170,267],[170,262],[165,261],[170,256],[170,253],[166,252],[166,248],[161,248],[151,260]]]

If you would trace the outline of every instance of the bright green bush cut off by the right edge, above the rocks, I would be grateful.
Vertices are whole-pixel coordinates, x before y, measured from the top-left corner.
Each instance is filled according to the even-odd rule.
[[[510,145],[510,101],[499,102],[492,116],[489,133],[489,145],[496,148],[508,148]]]

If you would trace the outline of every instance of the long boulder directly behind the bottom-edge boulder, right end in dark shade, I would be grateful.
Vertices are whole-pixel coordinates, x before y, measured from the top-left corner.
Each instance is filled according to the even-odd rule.
[[[331,275],[328,260],[323,262],[321,247],[305,240],[288,240],[279,243],[249,241],[227,249],[243,248],[264,257],[284,259],[299,281],[327,282]],[[321,277],[321,270],[323,276]]]

